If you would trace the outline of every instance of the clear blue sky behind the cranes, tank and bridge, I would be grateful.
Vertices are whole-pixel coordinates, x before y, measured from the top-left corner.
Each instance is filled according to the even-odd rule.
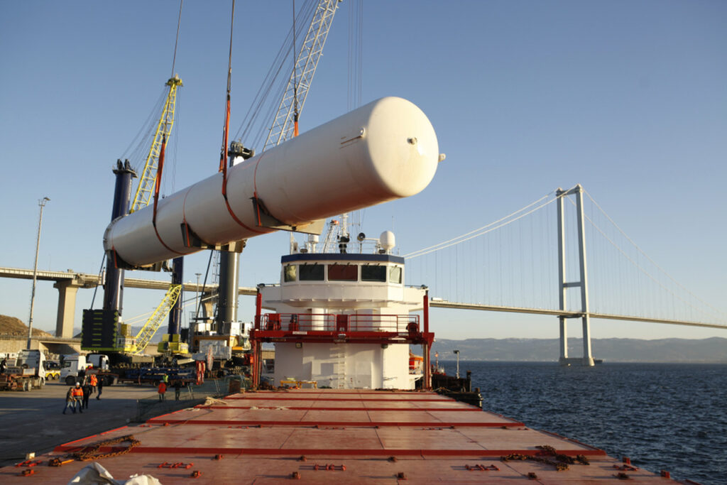
[[[318,65],[303,130],[346,111],[348,3]],[[0,1],[1,266],[32,268],[37,201],[48,196],[39,268],[99,270],[111,168],[169,78],[178,5]],[[166,193],[217,169],[229,16],[229,2],[188,0],[182,9],[175,71],[185,86]],[[291,23],[289,1],[238,1],[233,133]],[[649,257],[726,311],[725,2],[367,1],[363,25],[363,102],[396,95],[419,105],[447,155],[425,191],[367,209],[364,231],[393,228],[406,254],[581,183]],[[287,240],[250,240],[241,284],[277,281]],[[185,280],[204,273],[206,260],[188,258]],[[0,313],[27,321],[30,293],[30,281],[0,279]],[[56,297],[52,284],[39,283],[36,326],[55,328]],[[79,318],[91,298],[79,291]],[[124,316],[159,300],[127,289]],[[249,319],[252,300],[240,302]],[[462,311],[435,310],[433,327],[447,338],[558,334],[552,317]],[[727,336],[592,327],[595,337]]]

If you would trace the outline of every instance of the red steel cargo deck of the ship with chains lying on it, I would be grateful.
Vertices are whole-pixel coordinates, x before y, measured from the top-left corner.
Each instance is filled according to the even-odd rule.
[[[195,483],[215,484],[283,479],[308,483],[522,479],[563,484],[614,480],[619,474],[631,483],[664,481],[600,449],[436,393],[295,389],[238,393],[212,405],[63,444],[35,460],[42,463],[32,469],[1,468],[0,482],[67,483],[88,462],[51,467],[48,460],[99,443],[96,453],[123,452],[128,441],[103,442],[128,435],[138,441],[131,452],[97,460],[117,480],[147,474],[166,484],[191,479],[198,472]],[[511,459],[501,460],[507,456]],[[519,459],[523,457],[529,459]],[[567,470],[556,470],[554,464],[566,460],[575,462]],[[23,469],[34,473],[20,476]]]

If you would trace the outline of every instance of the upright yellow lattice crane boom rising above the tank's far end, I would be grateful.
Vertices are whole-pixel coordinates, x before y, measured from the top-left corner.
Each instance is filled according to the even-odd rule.
[[[156,169],[159,164],[161,143],[164,138],[169,140],[169,135],[172,133],[174,108],[177,105],[177,88],[183,85],[182,80],[176,74],[169,81],[166,81],[166,86],[169,86],[169,93],[166,95],[164,109],[161,111],[159,122],[156,125],[156,132],[154,133],[154,138],[146,157],[144,169],[139,177],[139,185],[137,186],[136,193],[134,193],[134,200],[132,201],[129,213],[136,212],[142,209],[142,207],[149,205],[151,196],[154,193],[154,184],[156,183]]]

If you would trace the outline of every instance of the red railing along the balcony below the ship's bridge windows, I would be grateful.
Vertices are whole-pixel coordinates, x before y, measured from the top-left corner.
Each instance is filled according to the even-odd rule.
[[[418,315],[265,313],[256,330],[286,332],[419,332]]]

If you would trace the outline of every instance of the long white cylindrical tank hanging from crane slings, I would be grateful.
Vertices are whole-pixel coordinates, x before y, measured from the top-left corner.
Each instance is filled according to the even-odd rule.
[[[258,226],[254,197],[282,223],[305,225],[419,193],[438,160],[427,116],[384,97],[228,168],[227,204],[217,173],[161,199],[156,228],[152,205],[113,221],[104,248],[142,266],[198,251],[185,244],[183,226],[209,245],[275,231]]]

